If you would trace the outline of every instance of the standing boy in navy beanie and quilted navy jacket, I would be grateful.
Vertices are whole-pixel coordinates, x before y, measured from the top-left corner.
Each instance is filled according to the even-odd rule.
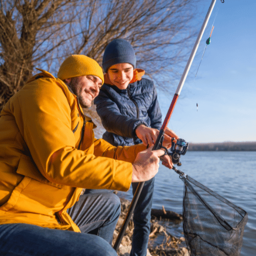
[[[95,98],[96,110],[106,130],[103,139],[115,146],[143,143],[154,145],[162,124],[162,114],[153,81],[142,78],[136,68],[133,47],[124,39],[114,39],[102,60],[104,84]],[[165,143],[177,135],[166,129]],[[166,156],[167,157],[167,156]],[[163,161],[167,167],[167,161]],[[133,194],[138,183],[133,183]],[[146,181],[134,210],[131,256],[146,255],[151,226],[154,178]]]

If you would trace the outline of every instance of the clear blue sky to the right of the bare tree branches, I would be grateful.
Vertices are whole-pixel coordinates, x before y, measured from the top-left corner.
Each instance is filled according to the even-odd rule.
[[[173,97],[158,90],[163,120]],[[168,127],[187,142],[256,141],[256,0],[217,0]]]

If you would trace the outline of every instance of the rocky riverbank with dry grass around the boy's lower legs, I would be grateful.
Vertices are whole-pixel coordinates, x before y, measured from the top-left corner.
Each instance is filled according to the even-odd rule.
[[[121,200],[121,215],[119,217],[116,229],[114,231],[113,245],[116,241],[127,210],[130,206],[130,201],[120,198]],[[154,216],[154,214],[156,216]],[[148,242],[147,256],[188,256],[188,251],[184,246],[185,239],[177,238],[166,231],[164,222],[167,221],[182,221],[182,216],[175,212],[165,211],[163,209],[152,209],[151,234]],[[129,256],[131,251],[131,241],[134,225],[130,221],[119,246],[119,256]]]

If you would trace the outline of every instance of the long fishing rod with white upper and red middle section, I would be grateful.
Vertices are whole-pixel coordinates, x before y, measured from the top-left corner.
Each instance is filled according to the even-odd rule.
[[[224,0],[221,0],[221,2],[224,3]],[[207,26],[207,23],[208,23],[208,21],[209,21],[211,12],[212,12],[212,10],[214,9],[215,3],[216,3],[216,0],[212,0],[212,1],[211,1],[210,7],[209,7],[208,12],[207,12],[207,14],[206,14],[206,16],[205,16],[205,19],[204,19],[203,25],[202,25],[202,27],[201,27],[201,30],[200,30],[200,32],[199,32],[199,34],[198,34],[197,40],[196,40],[195,45],[194,45],[194,47],[193,47],[193,50],[192,50],[192,52],[191,52],[191,54],[190,54],[190,56],[189,56],[189,59],[188,59],[188,61],[187,61],[186,67],[185,67],[185,69],[184,69],[184,72],[183,72],[183,74],[182,74],[182,76],[181,76],[181,79],[180,79],[179,85],[178,85],[178,87],[177,87],[177,90],[176,90],[176,92],[175,92],[175,95],[174,95],[174,97],[173,97],[172,103],[170,103],[169,110],[168,110],[168,112],[167,112],[167,114],[166,114],[166,116],[165,116],[164,122],[163,122],[162,127],[161,127],[161,129],[160,129],[160,131],[159,131],[159,135],[158,135],[158,137],[157,137],[157,140],[156,140],[156,142],[155,142],[155,145],[154,145],[154,147],[153,147],[153,150],[159,150],[160,148],[163,148],[162,143],[163,143],[163,139],[164,139],[164,132],[165,132],[166,127],[167,127],[167,124],[168,124],[168,122],[169,122],[170,116],[172,116],[172,113],[173,113],[173,111],[174,111],[174,107],[175,107],[175,105],[176,105],[176,102],[177,102],[178,97],[179,97],[179,95],[180,95],[180,92],[181,92],[181,90],[182,90],[183,84],[184,84],[184,82],[185,82],[185,79],[186,79],[186,77],[187,77],[188,71],[189,71],[189,69],[190,69],[190,67],[191,67],[191,64],[192,64],[192,62],[193,62],[193,59],[194,59],[194,57],[195,57],[195,55],[196,55],[196,52],[197,52],[197,49],[198,49],[198,47],[199,47],[201,38],[202,38],[202,36],[203,36],[203,33],[204,33],[205,28],[206,28],[206,26]],[[175,171],[177,170],[175,167],[173,167],[173,169],[174,169]],[[121,227],[121,229],[120,229],[120,231],[119,231],[119,233],[118,233],[116,242],[115,242],[115,244],[114,244],[114,246],[113,246],[113,248],[114,248],[116,251],[117,251],[118,248],[119,248],[119,245],[120,245],[120,243],[121,243],[121,241],[122,241],[124,232],[125,232],[125,230],[126,230],[126,228],[127,228],[127,225],[129,224],[129,221],[130,221],[131,217],[132,217],[133,211],[134,211],[134,209],[135,209],[135,206],[136,206],[137,201],[138,201],[138,199],[139,199],[139,196],[140,196],[140,194],[141,194],[141,190],[142,190],[142,188],[143,188],[143,186],[144,186],[144,183],[145,183],[145,182],[139,182],[139,184],[138,184],[138,186],[137,186],[137,189],[136,189],[136,191],[135,191],[133,200],[132,200],[132,202],[131,202],[131,204],[130,204],[130,207],[129,207],[128,211],[127,211],[126,217],[125,217],[125,219],[124,219],[124,221],[123,221],[122,227]]]

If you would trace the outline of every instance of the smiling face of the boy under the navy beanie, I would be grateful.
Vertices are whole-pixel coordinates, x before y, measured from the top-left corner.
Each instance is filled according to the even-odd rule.
[[[129,63],[118,63],[108,69],[111,82],[120,90],[125,90],[133,79],[133,65]]]

